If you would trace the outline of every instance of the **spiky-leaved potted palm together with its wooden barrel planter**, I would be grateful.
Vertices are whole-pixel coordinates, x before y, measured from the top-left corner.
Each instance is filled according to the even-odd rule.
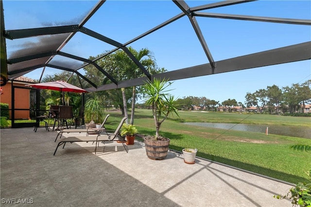
[[[159,134],[161,124],[170,115],[178,115],[176,99],[168,94],[167,87],[172,83],[168,80],[153,79],[147,82],[142,89],[145,103],[152,108],[152,114],[155,119],[155,136],[145,136],[144,143],[148,158],[153,160],[162,160],[167,156],[170,139],[162,137]]]

